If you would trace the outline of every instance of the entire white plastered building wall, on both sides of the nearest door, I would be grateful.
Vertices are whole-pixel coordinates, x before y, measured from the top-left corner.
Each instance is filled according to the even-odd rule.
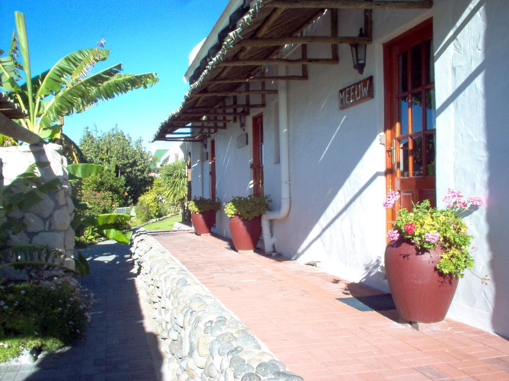
[[[383,43],[433,16],[437,199],[447,187],[488,199],[488,205],[473,214],[468,225],[478,247],[474,271],[489,274],[492,281],[485,286],[467,274],[449,316],[509,335],[509,242],[504,225],[509,209],[503,197],[509,186],[509,147],[503,135],[508,119],[504,97],[508,80],[503,76],[509,57],[504,48],[509,46],[504,18],[509,15],[508,7],[502,0],[480,1],[478,6],[475,1],[455,1],[453,6],[448,0],[436,0],[432,10],[374,11],[374,43],[367,50],[364,74],[352,68],[350,47],[341,45],[339,66],[309,66],[308,81],[289,83],[291,208],[285,219],[272,223],[279,253],[301,262],[320,261],[321,268],[331,274],[387,290],[380,271],[386,242],[382,207],[385,146],[380,144]],[[349,16],[342,18],[344,12]],[[356,16],[341,11],[340,20],[340,36],[356,35],[363,24],[362,12]],[[328,17],[310,29],[312,34],[325,35]],[[308,57],[328,58],[330,47],[310,45]],[[299,74],[299,70],[289,68],[289,74]],[[370,75],[374,76],[375,98],[339,110],[338,90]],[[267,96],[263,110],[251,110],[251,116],[261,111],[264,115],[265,193],[274,200],[273,209],[279,208],[280,195],[279,164],[274,163],[276,100]],[[247,118],[249,145],[243,148],[237,148],[237,137],[244,133],[238,125],[220,130],[215,137],[216,189],[223,202],[252,192],[250,129]],[[195,178],[193,172],[193,181]],[[193,194],[198,195],[194,186]],[[230,236],[222,210],[215,231]]]

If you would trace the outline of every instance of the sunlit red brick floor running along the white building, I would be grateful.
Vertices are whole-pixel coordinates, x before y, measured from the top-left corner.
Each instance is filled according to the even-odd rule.
[[[446,319],[436,330],[335,298],[380,294],[314,267],[193,231],[150,232],[306,381],[509,380],[509,341]]]

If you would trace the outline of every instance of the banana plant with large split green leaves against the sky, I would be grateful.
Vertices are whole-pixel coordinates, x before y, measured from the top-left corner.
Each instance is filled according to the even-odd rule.
[[[29,116],[17,122],[44,139],[64,137],[70,141],[62,134],[64,116],[83,112],[100,100],[115,98],[120,93],[153,86],[158,81],[156,73],[121,73],[121,63],[92,74],[96,63],[109,56],[103,40],[94,48],[66,55],[48,71],[32,77],[24,14],[15,12],[15,21],[17,33],[13,33],[7,56],[0,57],[0,87]],[[22,62],[18,61],[19,56]],[[19,85],[22,77],[26,83]]]

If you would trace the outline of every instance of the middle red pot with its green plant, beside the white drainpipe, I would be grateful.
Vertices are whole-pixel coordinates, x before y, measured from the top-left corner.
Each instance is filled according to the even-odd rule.
[[[237,250],[254,250],[262,232],[261,216],[269,210],[269,196],[236,196],[224,204]]]

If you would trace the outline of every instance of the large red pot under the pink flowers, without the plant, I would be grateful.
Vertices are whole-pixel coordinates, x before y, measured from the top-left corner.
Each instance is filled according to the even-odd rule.
[[[418,250],[408,240],[385,249],[385,272],[400,316],[410,322],[441,322],[453,301],[458,277],[436,269],[443,248]]]

